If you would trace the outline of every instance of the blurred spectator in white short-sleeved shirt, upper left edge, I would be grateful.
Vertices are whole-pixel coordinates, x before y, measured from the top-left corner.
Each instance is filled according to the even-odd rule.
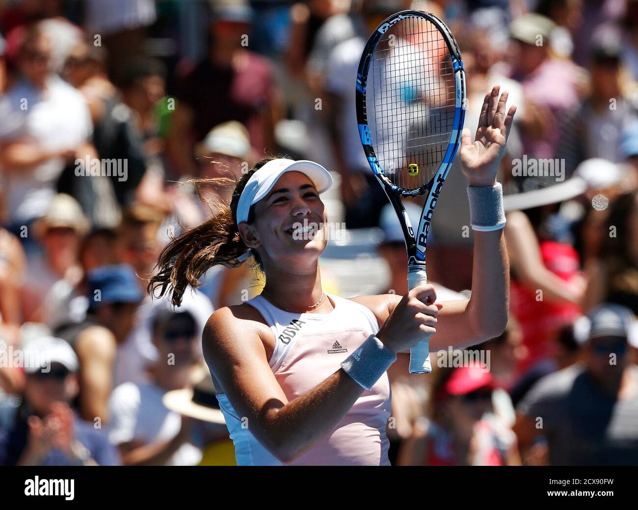
[[[64,168],[96,152],[86,101],[51,71],[51,41],[37,24],[15,30],[18,77],[0,96],[0,168],[10,230],[19,234],[47,212]]]

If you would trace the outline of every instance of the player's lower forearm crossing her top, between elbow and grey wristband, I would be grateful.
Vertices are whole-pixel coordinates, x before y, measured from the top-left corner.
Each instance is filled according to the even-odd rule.
[[[363,391],[339,368],[304,395],[280,409],[266,411],[264,446],[281,462],[294,460],[332,432]]]

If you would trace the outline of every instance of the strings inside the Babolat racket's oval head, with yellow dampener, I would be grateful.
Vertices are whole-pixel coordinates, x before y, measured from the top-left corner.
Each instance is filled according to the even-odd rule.
[[[422,18],[397,22],[378,43],[369,77],[378,161],[392,184],[420,189],[440,167],[454,126],[456,79],[443,35]]]

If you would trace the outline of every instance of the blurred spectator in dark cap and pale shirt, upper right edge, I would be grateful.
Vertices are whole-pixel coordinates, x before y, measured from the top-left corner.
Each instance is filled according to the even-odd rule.
[[[621,41],[614,33],[602,33],[593,41],[590,94],[561,119],[558,157],[565,159],[567,175],[591,157],[612,163],[624,159],[621,135],[638,119],[638,103],[621,89],[621,54]]]

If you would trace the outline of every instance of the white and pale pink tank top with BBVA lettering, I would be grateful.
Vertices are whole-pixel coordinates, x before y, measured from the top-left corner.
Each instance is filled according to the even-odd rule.
[[[279,386],[292,401],[341,368],[369,335],[378,332],[375,315],[364,305],[329,295],[334,310],[328,314],[293,314],[262,296],[247,301],[270,326],[275,348],[269,365]],[[232,409],[225,394],[218,394],[237,465],[281,465]],[[290,465],[390,465],[385,425],[390,417],[390,382],[387,374],[364,391],[339,424]]]

